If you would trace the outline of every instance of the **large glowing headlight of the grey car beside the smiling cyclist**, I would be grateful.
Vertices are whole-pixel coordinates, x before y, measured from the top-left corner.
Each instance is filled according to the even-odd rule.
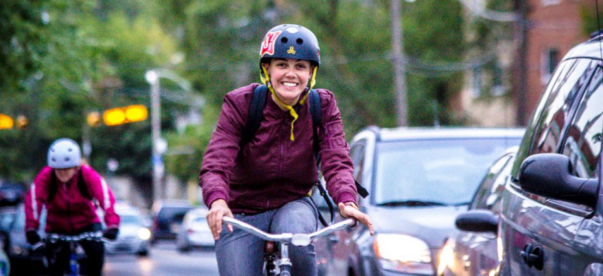
[[[433,275],[429,246],[423,240],[403,234],[376,234],[373,249],[379,265],[387,270]]]

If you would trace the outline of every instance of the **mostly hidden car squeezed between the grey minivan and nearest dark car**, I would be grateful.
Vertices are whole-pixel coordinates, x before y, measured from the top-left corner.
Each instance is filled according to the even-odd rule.
[[[511,172],[517,146],[494,162],[475,192],[469,211],[456,217],[457,231],[444,245],[438,275],[493,275],[498,268],[496,227],[484,231],[470,218],[484,212],[500,213],[500,195]],[[468,219],[469,218],[469,219]],[[476,231],[478,230],[478,231]]]

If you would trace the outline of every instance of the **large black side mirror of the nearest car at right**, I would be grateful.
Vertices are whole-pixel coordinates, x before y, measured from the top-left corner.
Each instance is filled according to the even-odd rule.
[[[571,174],[572,163],[563,154],[534,154],[523,160],[519,186],[526,192],[595,207],[599,180]]]

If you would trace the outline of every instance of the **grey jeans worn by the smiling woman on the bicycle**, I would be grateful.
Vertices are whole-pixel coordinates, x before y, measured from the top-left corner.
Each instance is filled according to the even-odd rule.
[[[312,233],[318,228],[318,215],[309,198],[291,201],[279,209],[257,215],[235,214],[235,218],[247,222],[268,233]],[[216,259],[220,275],[262,275],[264,243],[259,237],[236,227],[230,233],[226,225],[216,240]],[[298,247],[289,245],[289,258],[293,264],[292,275],[317,275],[314,245]]]

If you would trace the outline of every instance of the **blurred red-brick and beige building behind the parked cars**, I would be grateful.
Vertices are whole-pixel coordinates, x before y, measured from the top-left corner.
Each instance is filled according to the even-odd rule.
[[[466,118],[469,125],[526,125],[561,58],[588,39],[582,31],[581,10],[591,4],[594,10],[593,1],[514,2],[518,13],[524,11],[525,21],[517,21],[514,30],[509,30],[514,32],[513,39],[500,41],[496,49],[500,70],[507,81],[502,87],[492,86],[484,92],[481,87],[484,76],[467,71],[464,89],[450,102],[459,118]]]

